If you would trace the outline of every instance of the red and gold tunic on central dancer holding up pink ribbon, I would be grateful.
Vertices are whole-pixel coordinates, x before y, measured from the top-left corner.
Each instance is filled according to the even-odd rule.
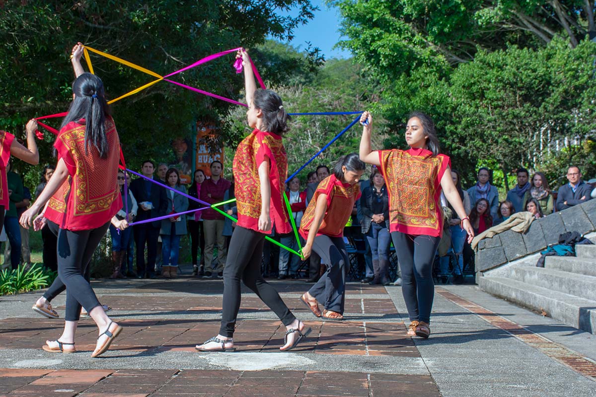
[[[288,173],[288,158],[281,136],[254,129],[240,142],[234,156],[234,193],[238,209],[238,226],[259,233],[261,209],[259,165],[269,158],[269,184],[271,185],[271,209],[269,216],[277,233],[290,233],[288,213],[284,208],[282,185]]]

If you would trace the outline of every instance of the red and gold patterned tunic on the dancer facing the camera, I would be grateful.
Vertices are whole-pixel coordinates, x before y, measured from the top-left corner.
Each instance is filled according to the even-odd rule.
[[[389,193],[389,231],[440,236],[443,214],[440,180],[449,157],[422,148],[378,152]]]

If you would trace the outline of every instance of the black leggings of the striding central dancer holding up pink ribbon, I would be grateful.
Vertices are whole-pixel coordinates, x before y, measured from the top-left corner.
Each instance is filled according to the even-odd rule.
[[[224,267],[224,301],[222,302],[220,335],[234,336],[236,317],[240,309],[240,279],[275,312],[284,326],[288,326],[296,320],[277,290],[261,276],[260,264],[264,242],[265,235],[263,233],[241,226],[236,226],[232,233],[228,248],[228,260]]]

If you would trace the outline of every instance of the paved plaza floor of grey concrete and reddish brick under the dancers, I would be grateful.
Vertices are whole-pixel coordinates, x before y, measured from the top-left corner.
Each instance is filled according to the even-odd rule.
[[[185,269],[185,271],[189,271]],[[91,358],[97,329],[80,322],[75,354],[42,351],[63,318],[31,310],[39,293],[0,298],[0,396],[591,396],[596,337],[494,298],[476,286],[437,286],[428,340],[408,337],[400,287],[350,283],[346,321],[321,321],[301,281],[272,281],[312,333],[280,352],[284,327],[243,296],[237,351],[198,353],[215,336],[221,280],[92,282],[124,327]],[[64,298],[54,308],[64,314]]]

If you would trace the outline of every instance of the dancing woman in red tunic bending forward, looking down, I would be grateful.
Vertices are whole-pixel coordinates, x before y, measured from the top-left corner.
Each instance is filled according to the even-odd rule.
[[[306,239],[303,257],[308,258],[315,251],[330,264],[318,282],[300,297],[316,317],[343,320],[346,267],[350,265],[343,228],[361,196],[358,181],[365,168],[355,153],[340,157],[333,174],[319,182],[302,217],[300,235]],[[324,304],[322,314],[318,302]]]

